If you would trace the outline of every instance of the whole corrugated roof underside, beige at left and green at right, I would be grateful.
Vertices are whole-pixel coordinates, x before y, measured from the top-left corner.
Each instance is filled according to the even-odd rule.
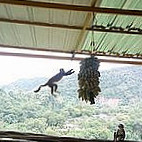
[[[65,52],[85,50],[98,55],[142,58],[141,16],[94,13],[92,29],[91,12],[12,4],[16,0],[7,4],[3,1],[0,0],[1,46]],[[142,10],[142,0],[31,1]],[[90,45],[92,40],[94,46]]]

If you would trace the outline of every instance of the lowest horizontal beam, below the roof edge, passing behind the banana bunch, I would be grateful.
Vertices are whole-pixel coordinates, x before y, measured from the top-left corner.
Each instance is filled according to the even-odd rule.
[[[85,57],[65,57],[65,56],[54,56],[54,55],[40,55],[30,53],[12,53],[12,52],[0,52],[0,56],[14,56],[14,57],[26,57],[26,58],[41,58],[41,59],[55,59],[55,60],[74,60],[80,61]],[[131,65],[142,65],[142,61],[126,61],[117,59],[99,59],[100,62],[105,63],[116,63],[116,64],[131,64]]]

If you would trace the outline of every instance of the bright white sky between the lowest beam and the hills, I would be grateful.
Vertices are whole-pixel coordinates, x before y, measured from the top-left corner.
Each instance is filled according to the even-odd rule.
[[[79,72],[79,61],[51,60],[24,57],[0,56],[0,85],[8,84],[20,78],[51,77],[59,72],[74,69]],[[122,67],[120,64],[101,63],[99,70]]]

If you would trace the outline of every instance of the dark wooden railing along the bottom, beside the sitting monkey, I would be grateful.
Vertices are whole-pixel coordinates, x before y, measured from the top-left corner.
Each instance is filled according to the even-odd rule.
[[[80,139],[73,137],[57,137],[34,133],[21,133],[14,131],[0,131],[0,141],[38,141],[38,142],[113,142],[113,140]],[[138,141],[125,141],[138,142]],[[140,142],[140,141],[139,141]]]

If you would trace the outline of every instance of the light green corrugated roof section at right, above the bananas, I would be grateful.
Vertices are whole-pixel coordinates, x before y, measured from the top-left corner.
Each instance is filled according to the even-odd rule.
[[[142,10],[142,0],[102,0],[100,7]],[[96,14],[94,24],[112,24],[115,27],[122,27],[132,24],[132,27],[142,29],[142,17]],[[93,50],[95,52],[105,52],[109,54],[141,54],[142,55],[142,35],[94,32],[95,47],[90,46],[92,32],[88,34],[82,50]]]

